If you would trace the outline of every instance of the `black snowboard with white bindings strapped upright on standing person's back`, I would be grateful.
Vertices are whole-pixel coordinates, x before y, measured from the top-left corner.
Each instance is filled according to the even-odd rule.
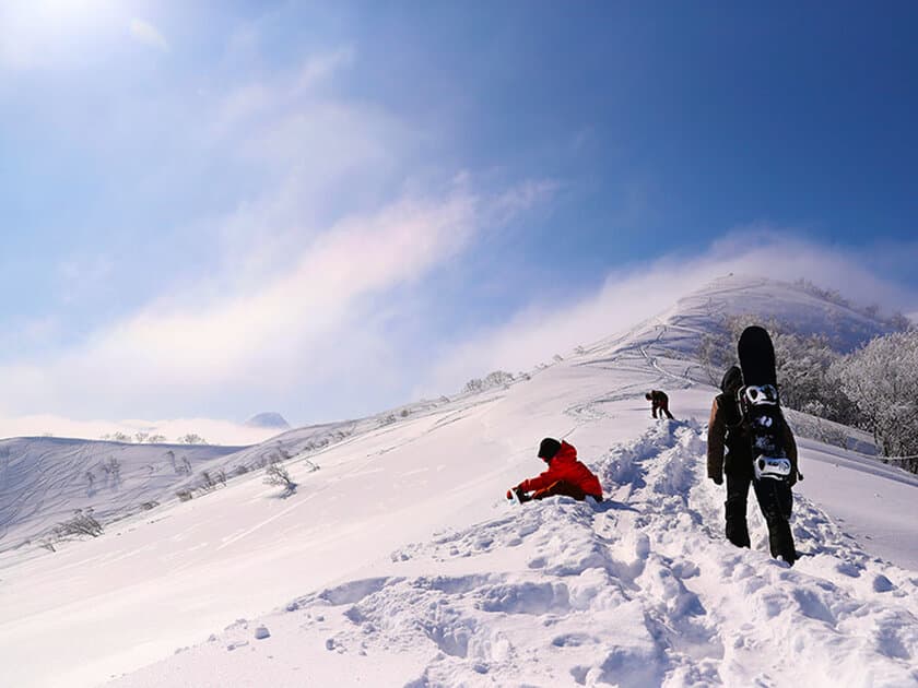
[[[791,479],[791,463],[784,447],[784,414],[778,395],[775,347],[758,325],[743,330],[737,346],[743,387],[738,392],[740,412],[752,438],[755,479]]]

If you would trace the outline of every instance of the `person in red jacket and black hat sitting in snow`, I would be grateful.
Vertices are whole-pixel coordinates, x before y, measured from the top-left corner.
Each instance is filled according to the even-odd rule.
[[[587,497],[602,501],[599,478],[577,461],[577,450],[573,444],[546,437],[539,444],[539,458],[549,464],[549,470],[507,490],[507,499],[513,499],[511,493],[516,493],[520,501],[544,499],[555,495],[565,495],[580,501]]]

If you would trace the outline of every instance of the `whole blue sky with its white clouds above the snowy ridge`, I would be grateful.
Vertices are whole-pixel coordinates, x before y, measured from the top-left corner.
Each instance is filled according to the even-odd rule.
[[[610,284],[666,266],[667,307],[671,265],[749,246],[918,311],[916,20],[3,3],[0,415],[361,415],[596,334],[558,330]]]

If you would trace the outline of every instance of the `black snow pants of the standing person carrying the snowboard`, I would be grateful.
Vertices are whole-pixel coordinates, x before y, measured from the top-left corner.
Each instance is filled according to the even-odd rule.
[[[750,483],[753,485],[758,508],[768,525],[768,546],[772,556],[781,557],[792,565],[797,560],[789,522],[793,494],[784,481],[769,478],[755,481],[751,475],[727,474],[727,501],[723,505],[727,512],[727,539],[737,547],[750,546],[745,518]]]

